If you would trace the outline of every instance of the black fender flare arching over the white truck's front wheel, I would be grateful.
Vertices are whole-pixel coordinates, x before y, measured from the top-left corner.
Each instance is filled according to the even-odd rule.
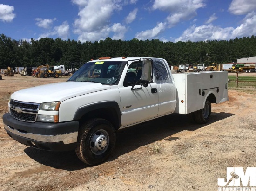
[[[121,111],[120,111],[120,107],[118,105],[117,102],[115,101],[108,101],[108,102],[98,102],[98,103],[93,103],[90,105],[86,105],[83,106],[81,108],[78,108],[74,114],[74,121],[79,121],[83,116],[95,112],[95,111],[99,111],[99,110],[108,110],[111,111],[111,114],[113,118],[115,118],[115,120],[112,119],[112,122],[115,129],[117,130],[119,127],[121,127]],[[108,114],[109,115],[109,114]],[[114,116],[115,115],[115,116]]]

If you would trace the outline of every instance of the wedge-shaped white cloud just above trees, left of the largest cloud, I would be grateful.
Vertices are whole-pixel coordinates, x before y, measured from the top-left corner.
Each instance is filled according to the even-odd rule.
[[[47,38],[47,37],[52,37],[56,35],[58,38],[61,38],[63,40],[66,40],[69,36],[69,25],[67,21],[63,22],[59,26],[55,26],[52,31],[48,31],[46,33],[40,34],[38,40],[40,38]]]

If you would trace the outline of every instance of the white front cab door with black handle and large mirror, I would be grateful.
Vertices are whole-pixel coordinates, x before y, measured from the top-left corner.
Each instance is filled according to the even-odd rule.
[[[139,66],[138,66],[139,65]],[[121,127],[136,124],[154,118],[158,114],[158,91],[155,78],[148,87],[142,87],[138,83],[134,86],[133,82],[137,82],[141,78],[142,62],[135,61],[129,65],[129,68],[122,76],[123,83],[119,83],[120,99],[121,99]]]

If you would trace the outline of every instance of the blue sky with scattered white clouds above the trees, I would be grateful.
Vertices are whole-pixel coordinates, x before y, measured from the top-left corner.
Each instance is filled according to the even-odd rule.
[[[229,40],[256,35],[256,0],[0,0],[12,39]]]

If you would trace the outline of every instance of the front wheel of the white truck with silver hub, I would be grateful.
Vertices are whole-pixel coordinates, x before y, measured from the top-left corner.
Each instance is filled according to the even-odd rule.
[[[115,147],[115,129],[112,124],[101,118],[94,118],[78,131],[77,157],[88,165],[97,165],[108,159]]]

